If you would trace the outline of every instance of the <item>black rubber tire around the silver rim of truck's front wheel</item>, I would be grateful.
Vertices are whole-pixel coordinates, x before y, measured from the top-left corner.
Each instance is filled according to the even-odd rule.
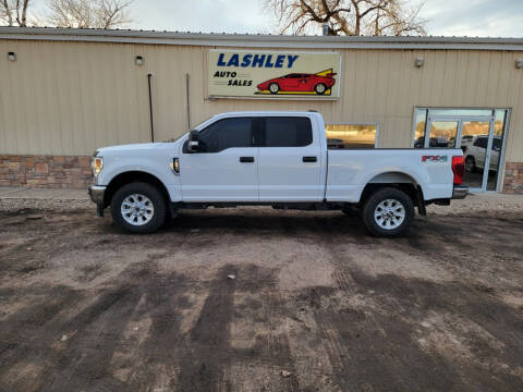
[[[134,194],[147,197],[153,204],[150,220],[139,225],[129,223],[121,210],[125,198]],[[145,234],[157,231],[166,221],[167,212],[167,204],[162,194],[158,188],[147,183],[135,182],[123,185],[115,192],[111,200],[112,219],[120,228],[131,233]]]

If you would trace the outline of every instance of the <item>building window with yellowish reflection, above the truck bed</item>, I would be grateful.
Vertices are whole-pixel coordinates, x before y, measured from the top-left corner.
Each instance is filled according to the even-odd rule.
[[[329,149],[378,147],[378,124],[326,124]]]

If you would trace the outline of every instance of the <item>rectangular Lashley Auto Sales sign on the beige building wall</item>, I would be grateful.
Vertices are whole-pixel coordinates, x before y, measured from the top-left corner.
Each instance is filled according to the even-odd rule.
[[[339,98],[338,52],[209,50],[211,97]]]

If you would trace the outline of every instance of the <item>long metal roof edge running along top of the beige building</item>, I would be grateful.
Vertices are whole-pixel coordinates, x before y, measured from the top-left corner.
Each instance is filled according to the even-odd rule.
[[[291,36],[56,27],[0,27],[0,39],[253,48],[523,50],[523,38],[502,37]]]

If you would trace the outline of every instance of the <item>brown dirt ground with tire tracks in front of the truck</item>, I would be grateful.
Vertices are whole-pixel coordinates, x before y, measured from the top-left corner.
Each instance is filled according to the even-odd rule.
[[[522,212],[0,221],[2,391],[523,391]]]

